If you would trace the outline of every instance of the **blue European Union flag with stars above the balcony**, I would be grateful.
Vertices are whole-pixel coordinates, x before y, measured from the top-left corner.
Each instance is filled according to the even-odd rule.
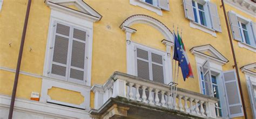
[[[179,44],[178,38],[176,34],[174,33],[174,54],[173,59],[177,60],[179,62],[179,66],[183,75],[183,80],[185,81],[187,78],[187,75],[190,72],[190,68],[187,65],[187,61],[185,58],[185,54],[183,52],[183,49],[181,48],[181,45]]]

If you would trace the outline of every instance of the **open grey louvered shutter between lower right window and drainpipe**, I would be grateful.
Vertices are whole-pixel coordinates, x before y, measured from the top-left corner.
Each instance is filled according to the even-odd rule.
[[[228,105],[228,115],[230,118],[244,116],[237,76],[235,72],[233,70],[223,72],[223,77],[226,93],[225,97]]]

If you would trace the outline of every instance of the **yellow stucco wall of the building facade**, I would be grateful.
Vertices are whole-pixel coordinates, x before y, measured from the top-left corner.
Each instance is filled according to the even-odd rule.
[[[99,22],[96,22],[93,25],[92,86],[95,84],[104,84],[114,71],[126,73],[125,33],[120,30],[119,26],[127,17],[135,14],[144,14],[156,18],[169,27],[171,31],[173,24],[175,29],[179,26],[179,29],[183,30],[182,37],[187,49],[188,58],[191,62],[194,79],[188,78],[186,82],[179,79],[178,87],[198,93],[200,92],[196,60],[189,52],[190,48],[194,46],[211,44],[229,60],[229,62],[223,66],[223,71],[233,69],[232,66],[234,63],[231,54],[230,41],[228,40],[223,9],[219,7],[221,4],[219,0],[211,0],[211,2],[218,6],[221,29],[223,31],[221,33],[217,32],[217,37],[213,37],[211,34],[190,27],[190,21],[185,18],[181,0],[170,0],[170,11],[163,11],[163,16],[159,16],[156,13],[139,6],[131,5],[128,0],[108,0],[107,2],[103,2],[102,0],[84,1],[103,16]],[[26,12],[26,2],[26,0],[8,0],[3,3],[3,8],[0,12],[1,67],[16,68]],[[70,8],[72,7],[76,9],[75,6],[70,6]],[[226,5],[226,10],[233,10],[256,22],[255,16],[247,15],[230,5]],[[49,19],[50,8],[45,5],[44,0],[32,1],[21,71],[37,75],[43,74]],[[132,34],[131,39],[133,41],[165,51],[165,46],[160,42],[164,39],[164,36],[159,31],[145,24],[134,24],[131,27],[137,30],[136,33]],[[11,47],[9,46],[9,43],[11,43]],[[239,47],[237,41],[233,40],[233,45],[239,67],[255,62],[255,53]],[[30,48],[32,48],[31,52]],[[248,57],[248,55],[251,57]],[[242,83],[242,91],[245,96],[248,117],[252,117],[245,76],[240,71],[239,74]],[[179,78],[181,77],[180,73]],[[0,94],[11,95],[13,81],[14,73],[0,70]],[[42,79],[20,75],[17,97],[29,99],[32,91],[41,92],[41,85]],[[70,95],[76,95],[76,93],[77,92],[72,92]],[[60,95],[59,97],[62,96],[63,95]],[[91,93],[90,105],[92,108],[94,102],[93,99],[94,94]],[[65,101],[80,103],[72,98],[65,99]]]

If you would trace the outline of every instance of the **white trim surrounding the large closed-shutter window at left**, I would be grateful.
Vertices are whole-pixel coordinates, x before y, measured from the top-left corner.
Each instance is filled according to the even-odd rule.
[[[64,20],[65,19],[65,20]],[[50,16],[50,24],[49,24],[49,33],[48,33],[48,41],[46,45],[46,53],[45,53],[45,64],[44,64],[44,72],[43,75],[46,77],[50,77],[50,64],[51,64],[51,53],[53,50],[50,49],[52,45],[52,39],[54,34],[54,27],[53,25],[55,22],[61,22],[65,24],[70,24],[76,27],[80,27],[86,30],[86,43],[85,43],[85,80],[84,85],[91,86],[91,62],[92,62],[92,33],[93,33],[93,22],[81,18],[77,18],[75,16],[67,15],[63,12],[57,11],[52,9],[51,16]],[[53,77],[55,79],[60,79],[58,77]]]

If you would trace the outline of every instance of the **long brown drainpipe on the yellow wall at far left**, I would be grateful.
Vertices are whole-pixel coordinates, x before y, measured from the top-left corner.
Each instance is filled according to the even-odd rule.
[[[12,95],[11,95],[11,104],[10,104],[9,117],[8,117],[9,119],[12,119],[12,114],[14,113],[14,102],[15,102],[16,90],[18,86],[19,69],[21,68],[22,53],[23,53],[25,36],[26,36],[26,27],[28,26],[30,6],[31,6],[31,0],[28,0],[25,22],[24,22],[23,31],[22,31],[21,46],[19,47],[19,55],[18,55],[18,61],[17,61],[15,79],[14,79],[14,88],[12,89]]]

